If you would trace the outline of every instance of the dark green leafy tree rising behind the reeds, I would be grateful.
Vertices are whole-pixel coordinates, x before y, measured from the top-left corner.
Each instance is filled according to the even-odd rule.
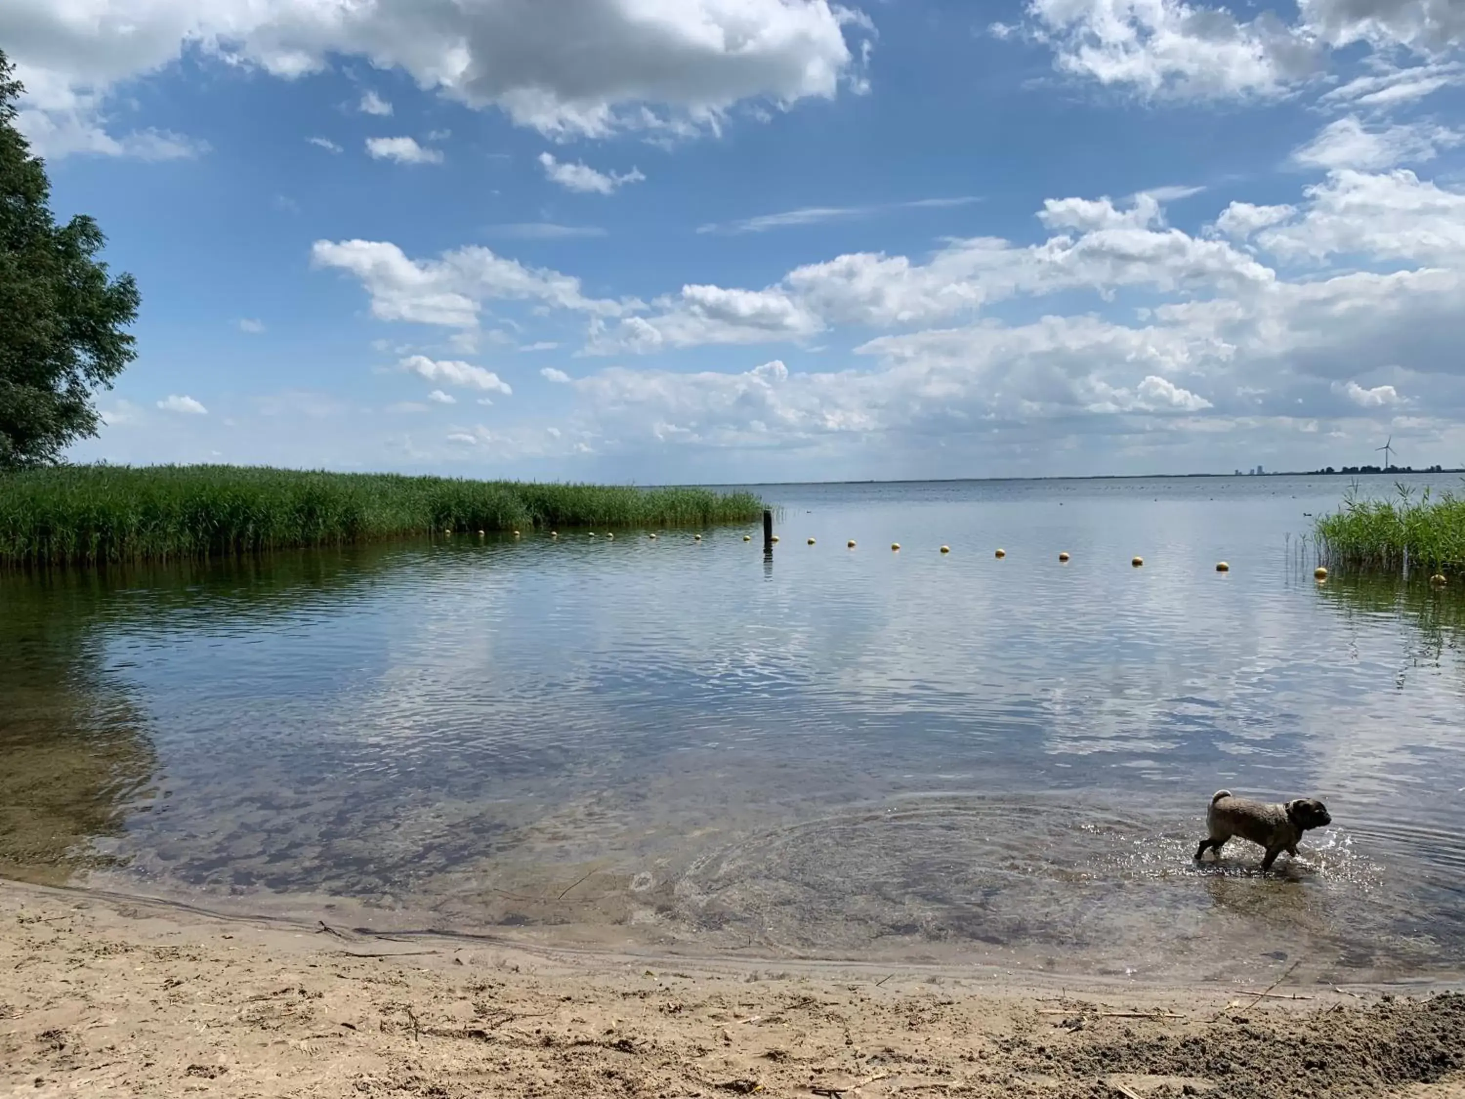
[[[132,275],[107,277],[89,217],[57,226],[45,163],[15,126],[23,88],[0,51],[0,469],[56,462],[97,434],[98,388],[136,356]]]

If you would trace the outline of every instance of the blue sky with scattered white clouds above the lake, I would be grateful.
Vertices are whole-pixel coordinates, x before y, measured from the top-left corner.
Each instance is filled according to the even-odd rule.
[[[73,457],[1465,463],[1465,7],[10,0],[138,277]]]

